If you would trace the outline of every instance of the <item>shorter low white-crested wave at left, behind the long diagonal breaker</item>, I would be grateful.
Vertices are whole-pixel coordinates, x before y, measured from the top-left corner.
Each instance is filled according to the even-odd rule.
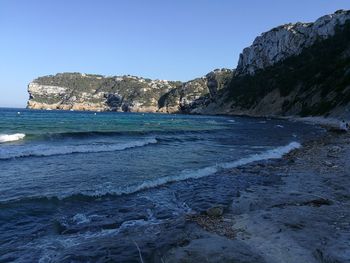
[[[27,147],[24,151],[21,150],[20,147],[7,149],[0,148],[0,160],[23,157],[67,155],[73,153],[114,152],[135,147],[142,147],[157,142],[158,141],[155,138],[147,138],[118,144],[83,144],[66,146],[34,145],[31,147]]]

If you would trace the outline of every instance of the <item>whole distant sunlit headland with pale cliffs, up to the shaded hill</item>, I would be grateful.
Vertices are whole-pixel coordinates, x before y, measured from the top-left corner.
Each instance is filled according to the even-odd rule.
[[[216,70],[186,83],[135,76],[104,77],[60,73],[35,79],[28,85],[31,109],[124,112],[180,112],[202,96],[213,96],[232,76]],[[176,94],[176,96],[173,96]]]

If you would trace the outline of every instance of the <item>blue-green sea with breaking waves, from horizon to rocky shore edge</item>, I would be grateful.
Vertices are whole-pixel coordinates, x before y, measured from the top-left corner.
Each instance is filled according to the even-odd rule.
[[[259,183],[225,169],[321,133],[261,118],[0,109],[0,262],[139,262],[136,242],[154,258],[181,216]]]

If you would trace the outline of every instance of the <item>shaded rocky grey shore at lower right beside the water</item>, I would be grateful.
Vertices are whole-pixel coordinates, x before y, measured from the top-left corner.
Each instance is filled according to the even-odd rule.
[[[279,161],[230,169],[272,182],[241,191],[222,215],[190,215],[194,238],[164,262],[350,262],[349,143],[349,134],[327,132]]]

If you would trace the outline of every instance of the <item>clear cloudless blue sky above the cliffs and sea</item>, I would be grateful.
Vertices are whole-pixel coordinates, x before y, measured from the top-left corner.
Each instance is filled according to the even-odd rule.
[[[189,80],[234,68],[260,33],[349,0],[0,0],[0,106],[58,72]]]

